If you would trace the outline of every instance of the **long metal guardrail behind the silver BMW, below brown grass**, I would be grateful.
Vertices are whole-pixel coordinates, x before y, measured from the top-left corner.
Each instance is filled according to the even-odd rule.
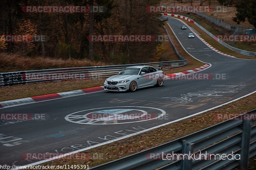
[[[156,63],[139,63],[126,65],[110,65],[95,67],[75,67],[62,69],[46,69],[46,70],[30,70],[0,73],[0,86],[24,85],[32,83],[40,83],[46,81],[61,81],[66,79],[93,79],[106,78],[117,74],[129,66],[150,65],[153,67],[163,67],[169,69],[187,65],[187,60],[166,61]]]

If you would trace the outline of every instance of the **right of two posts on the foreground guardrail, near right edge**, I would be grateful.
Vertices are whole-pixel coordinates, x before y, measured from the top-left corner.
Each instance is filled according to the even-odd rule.
[[[242,146],[241,146],[241,169],[248,169],[250,140],[251,140],[251,124],[250,120],[243,120]]]

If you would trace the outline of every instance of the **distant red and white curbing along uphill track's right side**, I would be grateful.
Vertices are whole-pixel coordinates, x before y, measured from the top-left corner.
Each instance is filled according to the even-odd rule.
[[[182,15],[176,15],[176,14],[169,14],[169,13],[164,13],[163,15],[166,15],[166,16],[173,16],[173,17],[179,17],[179,18],[182,18],[182,19],[185,19],[185,20],[188,20],[189,22],[191,23],[194,23],[194,21],[188,17],[184,17]],[[229,54],[225,54],[219,50],[217,50],[216,48],[212,47],[208,42],[206,42],[202,37],[200,37],[200,35],[198,35],[186,22],[182,21],[181,19],[178,19],[180,20],[183,24],[185,24],[201,41],[204,42],[204,44],[206,44],[209,48],[211,48],[212,50],[216,51],[217,53],[219,54],[222,54],[222,55],[226,55],[228,57],[233,57],[233,58],[236,58],[235,56],[233,55],[229,55]],[[193,21],[193,22],[192,22]]]

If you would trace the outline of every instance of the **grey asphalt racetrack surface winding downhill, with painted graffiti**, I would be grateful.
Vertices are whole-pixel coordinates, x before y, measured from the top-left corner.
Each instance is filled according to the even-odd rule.
[[[48,117],[46,120],[20,121],[13,124],[1,121],[0,164],[31,164],[38,160],[23,159],[22,154],[72,152],[193,115],[256,91],[256,60],[221,55],[211,50],[197,37],[188,39],[188,33],[191,31],[181,30],[183,24],[177,19],[169,18],[168,23],[191,55],[212,64],[212,67],[198,72],[210,73],[211,79],[169,79],[165,80],[162,87],[151,87],[136,92],[95,92],[2,108],[0,113],[41,113],[47,114]],[[216,79],[215,74],[226,75],[226,79]],[[131,113],[144,111],[153,117],[162,113],[165,115],[159,119],[140,122],[138,120],[84,121],[84,115],[90,112],[118,111],[110,109],[123,109],[121,112]],[[69,119],[73,119],[74,122],[65,119],[70,114],[73,115],[69,116]]]

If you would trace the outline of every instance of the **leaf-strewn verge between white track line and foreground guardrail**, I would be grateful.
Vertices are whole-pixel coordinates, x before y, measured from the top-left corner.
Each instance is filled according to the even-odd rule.
[[[41,164],[42,166],[51,165],[82,165],[87,164],[90,167],[97,166],[124,156],[146,150],[148,148],[164,144],[174,139],[186,136],[198,130],[205,129],[209,126],[220,123],[224,120],[216,120],[214,114],[236,114],[248,112],[256,106],[256,93],[234,101],[222,107],[218,107],[211,111],[200,115],[190,117],[179,122],[150,130],[148,132],[138,134],[133,137],[128,137],[110,144],[105,144],[100,147],[92,148],[81,153],[100,153],[103,159],[88,159],[88,160],[65,160],[56,159],[51,162]],[[132,146],[132,147],[131,147]],[[253,162],[252,162],[253,164]]]

